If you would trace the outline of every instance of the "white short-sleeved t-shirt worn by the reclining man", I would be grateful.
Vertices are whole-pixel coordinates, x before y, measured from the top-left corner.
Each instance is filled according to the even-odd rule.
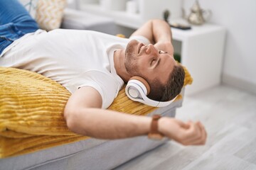
[[[149,43],[144,37],[132,39]],[[114,51],[130,40],[92,30],[37,30],[6,47],[0,66],[37,72],[70,93],[91,86],[102,96],[102,108],[108,108],[124,85],[114,69]]]

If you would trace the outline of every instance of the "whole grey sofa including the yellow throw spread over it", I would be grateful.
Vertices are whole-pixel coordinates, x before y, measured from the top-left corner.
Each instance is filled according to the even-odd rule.
[[[114,26],[111,18],[73,9],[65,10],[61,24],[62,28],[91,29],[113,35]],[[169,106],[152,108],[130,101],[123,88],[108,109],[143,116],[160,114],[174,117],[176,109],[182,106],[185,86],[192,83],[191,75],[184,69],[184,88]],[[0,170],[114,169],[168,141],[166,138],[149,140],[146,136],[99,140],[76,135],[68,130],[63,119],[63,108],[70,94],[60,84],[40,74],[19,69],[0,67],[0,74]],[[18,89],[20,84],[25,85]],[[58,101],[50,98],[52,95]],[[40,117],[42,111],[48,115],[45,120],[44,116]],[[42,125],[48,126],[38,128],[43,121],[46,123]],[[53,128],[53,125],[56,127]]]

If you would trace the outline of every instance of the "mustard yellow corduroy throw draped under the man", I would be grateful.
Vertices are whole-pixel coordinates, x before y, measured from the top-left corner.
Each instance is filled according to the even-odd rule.
[[[184,70],[186,86],[193,80]],[[0,67],[0,158],[89,138],[67,128],[63,111],[69,97],[67,89],[41,74]],[[123,88],[108,109],[146,115],[156,108],[129,100]]]

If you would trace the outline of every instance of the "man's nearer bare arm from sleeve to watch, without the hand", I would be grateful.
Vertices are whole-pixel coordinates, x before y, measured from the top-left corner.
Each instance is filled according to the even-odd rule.
[[[134,137],[149,132],[151,118],[109,111],[101,106],[102,98],[97,90],[90,86],[78,89],[65,106],[68,128],[101,139]]]

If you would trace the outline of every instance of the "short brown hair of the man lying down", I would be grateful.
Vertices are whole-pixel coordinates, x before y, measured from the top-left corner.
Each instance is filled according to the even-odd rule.
[[[157,79],[150,84],[149,98],[155,101],[171,101],[181,93],[185,79],[185,72],[181,64],[174,66],[173,72],[169,76],[167,84],[161,84]]]

